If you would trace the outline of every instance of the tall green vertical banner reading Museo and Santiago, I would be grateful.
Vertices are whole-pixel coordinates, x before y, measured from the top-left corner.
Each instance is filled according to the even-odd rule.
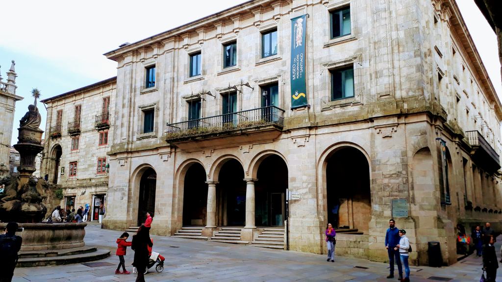
[[[291,108],[307,106],[305,33],[307,15],[291,19]]]

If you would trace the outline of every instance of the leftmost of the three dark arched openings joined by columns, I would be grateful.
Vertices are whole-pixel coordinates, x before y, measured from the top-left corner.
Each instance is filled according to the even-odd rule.
[[[183,186],[183,226],[206,225],[207,184],[206,172],[194,163],[185,174]]]

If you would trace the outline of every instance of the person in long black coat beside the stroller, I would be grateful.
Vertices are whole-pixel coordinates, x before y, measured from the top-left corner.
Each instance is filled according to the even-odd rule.
[[[144,225],[138,228],[138,233],[133,236],[133,241],[131,248],[134,250],[134,262],[133,265],[138,269],[138,277],[136,277],[136,282],[145,282],[145,268],[148,264],[148,247],[153,246],[152,240],[150,240],[150,235],[148,234],[148,229]]]

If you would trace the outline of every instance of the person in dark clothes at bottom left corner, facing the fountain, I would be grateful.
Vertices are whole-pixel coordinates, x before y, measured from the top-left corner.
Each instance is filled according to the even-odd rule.
[[[0,281],[11,282],[14,269],[18,262],[18,251],[21,249],[23,238],[16,235],[18,224],[9,222],[6,226],[6,233],[0,235]]]

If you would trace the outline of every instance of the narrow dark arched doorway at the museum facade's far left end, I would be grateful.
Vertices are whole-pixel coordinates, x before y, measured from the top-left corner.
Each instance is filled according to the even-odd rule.
[[[148,168],[140,180],[140,194],[138,204],[138,226],[141,226],[147,219],[147,212],[155,211],[155,190],[157,186],[157,173],[154,169]]]

